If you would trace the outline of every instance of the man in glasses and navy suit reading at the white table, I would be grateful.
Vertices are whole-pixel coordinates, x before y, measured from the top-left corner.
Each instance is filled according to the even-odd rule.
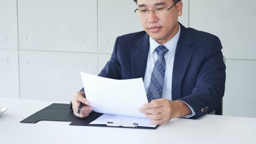
[[[154,124],[172,118],[199,118],[215,110],[224,95],[225,64],[221,41],[215,35],[185,28],[178,23],[180,0],[134,0],[144,31],[122,35],[115,41],[111,59],[99,76],[112,79],[142,77],[145,90],[151,89],[151,74],[157,59],[156,47],[168,49],[160,98],[139,108]],[[74,113],[83,90],[72,99]],[[83,106],[79,117],[88,116],[91,106]]]

